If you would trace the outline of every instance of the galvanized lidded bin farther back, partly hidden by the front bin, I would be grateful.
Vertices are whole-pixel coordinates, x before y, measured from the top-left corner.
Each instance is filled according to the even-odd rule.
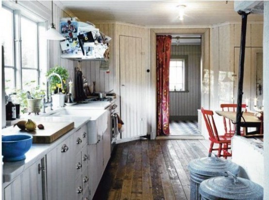
[[[219,157],[198,158],[189,163],[190,170],[190,199],[201,200],[199,186],[202,181],[212,177],[224,176],[225,171],[231,171],[237,175],[239,166],[235,163]]]

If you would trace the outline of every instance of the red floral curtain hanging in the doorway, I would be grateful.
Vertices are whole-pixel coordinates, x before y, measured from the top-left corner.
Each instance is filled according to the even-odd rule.
[[[157,36],[157,136],[169,135],[170,35]]]

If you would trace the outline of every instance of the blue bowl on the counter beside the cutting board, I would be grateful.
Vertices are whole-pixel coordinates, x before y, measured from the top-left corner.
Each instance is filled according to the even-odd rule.
[[[33,136],[10,135],[2,136],[3,161],[18,161],[25,159],[25,153],[31,148]]]

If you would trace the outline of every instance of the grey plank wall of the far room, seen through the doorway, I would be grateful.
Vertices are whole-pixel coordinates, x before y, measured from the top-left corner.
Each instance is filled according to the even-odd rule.
[[[188,91],[169,92],[170,119],[196,119],[201,107],[201,45],[172,45],[171,56],[188,55]]]

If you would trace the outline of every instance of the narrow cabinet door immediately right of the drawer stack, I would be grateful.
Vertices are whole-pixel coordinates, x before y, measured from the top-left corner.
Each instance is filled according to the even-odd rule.
[[[89,198],[93,198],[98,186],[97,181],[97,144],[87,145],[88,147],[88,175],[89,175]]]

